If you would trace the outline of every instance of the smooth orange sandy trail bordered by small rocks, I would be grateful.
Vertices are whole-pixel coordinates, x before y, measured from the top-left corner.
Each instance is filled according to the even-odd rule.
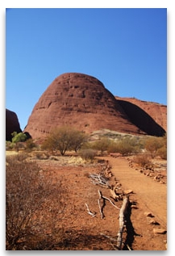
[[[124,157],[103,157],[110,162],[111,171],[122,183],[123,189],[131,189],[137,199],[152,212],[160,223],[167,224],[167,186],[154,181],[152,178],[140,174],[138,170],[128,166]]]

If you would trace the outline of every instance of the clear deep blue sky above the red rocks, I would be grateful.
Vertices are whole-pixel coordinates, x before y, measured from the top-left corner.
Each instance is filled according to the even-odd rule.
[[[120,97],[166,105],[167,10],[7,9],[6,108],[22,129],[67,72],[92,75]]]

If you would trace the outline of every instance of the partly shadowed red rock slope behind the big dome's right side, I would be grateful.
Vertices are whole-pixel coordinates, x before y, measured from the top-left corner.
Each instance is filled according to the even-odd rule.
[[[135,98],[115,96],[131,122],[152,136],[167,132],[167,106]]]

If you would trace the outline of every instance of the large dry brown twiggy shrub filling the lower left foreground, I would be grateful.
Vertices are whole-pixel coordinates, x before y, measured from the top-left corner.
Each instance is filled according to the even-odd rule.
[[[49,250],[60,241],[64,217],[60,180],[35,162],[6,157],[6,250]]]

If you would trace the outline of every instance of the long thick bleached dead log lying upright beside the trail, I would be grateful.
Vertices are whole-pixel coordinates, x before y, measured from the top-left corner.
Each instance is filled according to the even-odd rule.
[[[117,234],[117,247],[119,250],[121,250],[122,248],[122,237],[123,237],[123,230],[125,227],[125,216],[127,213],[128,204],[129,204],[129,197],[127,196],[123,199],[123,205],[119,211],[119,232]]]

